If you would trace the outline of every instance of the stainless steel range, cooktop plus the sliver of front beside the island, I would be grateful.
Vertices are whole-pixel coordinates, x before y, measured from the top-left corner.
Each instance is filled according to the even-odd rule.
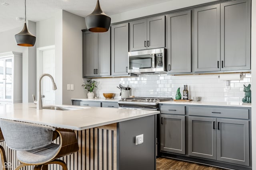
[[[142,109],[142,110],[159,110],[159,102],[173,100],[172,98],[148,98],[148,97],[135,97],[135,98],[122,98],[118,101],[120,109]],[[159,139],[160,139],[160,124],[159,115],[155,118],[155,137],[156,137],[156,156],[159,153]]]

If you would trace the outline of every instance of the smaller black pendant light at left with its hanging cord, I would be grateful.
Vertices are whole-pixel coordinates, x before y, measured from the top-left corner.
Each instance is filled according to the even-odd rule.
[[[24,47],[32,47],[36,42],[36,37],[28,31],[26,24],[26,0],[25,0],[25,23],[22,31],[15,35],[17,45]]]

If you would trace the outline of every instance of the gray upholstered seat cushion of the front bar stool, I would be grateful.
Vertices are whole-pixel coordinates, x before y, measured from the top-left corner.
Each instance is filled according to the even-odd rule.
[[[18,160],[24,162],[25,164],[38,164],[43,163],[51,158],[54,158],[56,153],[58,153],[60,145],[51,143],[45,147],[33,150],[17,150],[16,156]]]

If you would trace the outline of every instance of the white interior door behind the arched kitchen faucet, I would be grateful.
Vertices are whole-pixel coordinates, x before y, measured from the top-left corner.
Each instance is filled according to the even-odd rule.
[[[38,80],[39,76],[44,73],[51,74],[55,78],[55,49],[45,48],[41,50],[38,48]],[[55,91],[52,90],[52,81],[48,76],[42,78],[41,94],[43,106],[55,104]]]

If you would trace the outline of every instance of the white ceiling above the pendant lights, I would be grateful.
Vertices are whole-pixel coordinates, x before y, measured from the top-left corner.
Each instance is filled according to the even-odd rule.
[[[100,6],[110,16],[167,1],[170,0],[100,0]],[[4,2],[9,5],[1,5]],[[85,17],[94,10],[96,0],[26,0],[26,6],[27,20],[37,22],[54,17],[59,10]],[[0,0],[0,32],[22,27],[24,21],[16,18],[25,18],[24,11],[24,0]]]

